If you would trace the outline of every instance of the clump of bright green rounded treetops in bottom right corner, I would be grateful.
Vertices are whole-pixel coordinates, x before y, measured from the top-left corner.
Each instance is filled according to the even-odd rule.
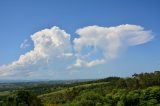
[[[160,87],[142,90],[113,90],[106,95],[107,102],[113,106],[153,106],[160,104]]]

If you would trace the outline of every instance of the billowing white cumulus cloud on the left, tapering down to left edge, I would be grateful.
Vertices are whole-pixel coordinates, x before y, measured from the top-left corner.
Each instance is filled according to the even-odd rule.
[[[44,29],[31,36],[34,48],[30,52],[21,55],[17,61],[0,66],[0,75],[9,75],[14,72],[43,70],[60,58],[72,56],[70,35],[58,27]],[[53,70],[53,69],[52,69]]]

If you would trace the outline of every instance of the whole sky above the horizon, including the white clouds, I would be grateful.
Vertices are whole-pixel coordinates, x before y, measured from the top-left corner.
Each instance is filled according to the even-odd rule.
[[[0,80],[160,70],[159,0],[1,0]]]

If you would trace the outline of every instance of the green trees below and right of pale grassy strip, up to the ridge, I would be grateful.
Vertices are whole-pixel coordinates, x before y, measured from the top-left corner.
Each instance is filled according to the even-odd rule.
[[[104,83],[103,82],[108,82]],[[46,104],[66,106],[159,106],[160,71],[134,74],[132,77],[108,77],[89,84],[43,96]],[[83,83],[85,84],[85,83]]]

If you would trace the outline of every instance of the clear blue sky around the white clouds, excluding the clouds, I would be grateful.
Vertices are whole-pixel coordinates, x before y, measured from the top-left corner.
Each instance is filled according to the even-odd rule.
[[[3,74],[6,71],[7,74],[2,75],[1,79],[83,79],[108,76],[125,77],[134,73],[159,70],[159,10],[159,0],[120,0],[119,2],[116,0],[2,0],[0,1],[0,73]],[[88,32],[85,31],[85,28],[88,28],[88,26],[97,26],[89,28],[92,32],[94,28],[101,30],[103,28],[114,27],[118,30],[119,25],[126,24],[136,25],[136,28],[137,26],[141,26],[144,28],[143,31],[152,32],[151,34],[145,32],[145,35],[150,35],[154,38],[147,40],[145,43],[141,42],[141,44],[134,46],[127,45],[126,47],[126,45],[123,45],[124,48],[119,48],[123,50],[118,49],[118,53],[115,54],[116,57],[109,60],[107,57],[108,55],[102,55],[103,53],[108,54],[109,50],[104,49],[105,47],[101,49],[101,45],[99,44],[90,44],[92,43],[90,40],[88,40],[88,42],[90,42],[89,46],[86,42],[85,44],[87,46],[84,46],[84,42],[82,42],[81,45],[83,45],[83,50],[80,53],[77,53],[78,50],[75,48],[78,48],[79,45],[77,44],[78,46],[75,47],[74,40],[75,38],[88,36],[86,35]],[[52,29],[53,26],[59,28]],[[43,63],[41,60],[39,60],[40,63],[35,64],[35,66],[33,64],[31,64],[31,67],[27,66],[27,69],[17,69],[16,67],[15,69],[10,70],[8,68],[11,67],[10,64],[18,61],[21,55],[33,50],[34,44],[31,35],[43,29],[50,29],[53,30],[53,32],[55,30],[64,30],[65,33],[62,34],[69,34],[71,38],[71,40],[69,40],[69,42],[71,42],[71,44],[69,44],[71,50],[67,49],[63,51],[63,53],[70,53],[72,56],[63,61],[63,59],[57,59],[54,55],[56,58],[53,57],[54,59],[51,59],[51,62],[48,63],[47,66],[40,67],[40,69],[38,67],[40,63]],[[78,29],[83,30],[76,33]],[[100,35],[101,33],[95,35],[95,37],[99,37]],[[40,35],[37,35],[35,39],[38,36]],[[88,37],[92,37],[92,35]],[[86,37],[84,37],[84,39],[85,38]],[[106,42],[108,41],[104,41],[104,43]],[[21,47],[22,44],[24,44],[24,47]],[[66,45],[66,43],[64,43],[64,45]],[[83,53],[88,53],[93,50],[94,46],[97,47],[97,45],[99,49],[96,49],[90,57],[84,59],[85,56]],[[64,50],[67,47],[57,49]],[[53,49],[53,51],[47,54],[49,56],[53,55],[55,51],[58,51],[55,48],[51,49]],[[39,59],[39,57],[37,58]],[[95,58],[98,60],[105,60],[105,62],[101,61],[102,64],[100,63],[93,67],[82,66],[78,67],[78,69],[72,70],[66,68],[72,66],[72,64],[74,66],[78,59],[81,63],[87,64],[88,61],[91,62],[92,60],[96,60]],[[12,74],[10,75],[10,73]],[[37,76],[33,76],[32,74],[36,74]]]

